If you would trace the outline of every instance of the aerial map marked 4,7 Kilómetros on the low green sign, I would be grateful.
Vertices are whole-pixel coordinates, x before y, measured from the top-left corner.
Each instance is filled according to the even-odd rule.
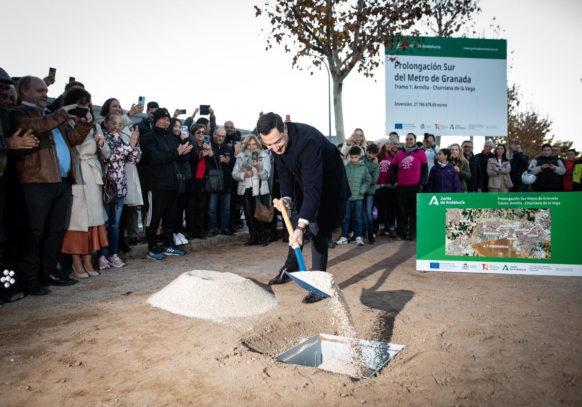
[[[550,258],[550,209],[450,208],[445,229],[448,256]]]

